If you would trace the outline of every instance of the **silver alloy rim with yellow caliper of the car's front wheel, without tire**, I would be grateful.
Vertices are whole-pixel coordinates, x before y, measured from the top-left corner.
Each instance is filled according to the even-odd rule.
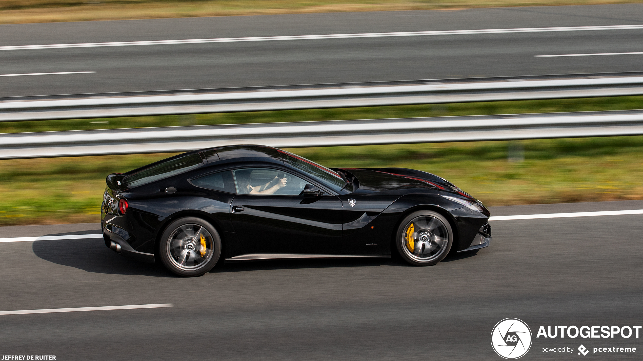
[[[416,262],[428,263],[444,253],[449,231],[440,219],[421,215],[404,226],[400,242],[406,256]]]

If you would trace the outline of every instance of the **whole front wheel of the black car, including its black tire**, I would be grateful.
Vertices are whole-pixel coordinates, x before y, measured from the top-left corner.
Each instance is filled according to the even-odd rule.
[[[451,250],[453,230],[449,221],[437,212],[413,212],[400,222],[395,245],[401,258],[409,264],[434,265]]]

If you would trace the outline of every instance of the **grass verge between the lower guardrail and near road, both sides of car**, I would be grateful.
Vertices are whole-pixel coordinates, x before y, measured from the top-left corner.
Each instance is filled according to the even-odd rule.
[[[432,172],[486,205],[643,199],[643,137],[289,149],[331,167]],[[514,142],[515,144],[515,142]],[[98,222],[105,176],[170,155],[0,160],[0,226]]]

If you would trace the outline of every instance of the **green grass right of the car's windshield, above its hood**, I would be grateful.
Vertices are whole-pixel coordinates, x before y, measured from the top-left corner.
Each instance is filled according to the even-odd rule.
[[[643,137],[327,147],[294,152],[332,167],[406,167],[452,181],[489,206],[643,198]]]

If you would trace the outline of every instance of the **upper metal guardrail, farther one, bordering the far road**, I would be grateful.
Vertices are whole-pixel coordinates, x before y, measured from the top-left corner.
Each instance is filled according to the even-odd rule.
[[[0,121],[85,119],[187,113],[252,112],[354,106],[411,105],[632,96],[643,94],[643,72],[575,74],[550,78],[405,81],[292,87],[175,91],[175,94],[104,94],[5,98]]]

